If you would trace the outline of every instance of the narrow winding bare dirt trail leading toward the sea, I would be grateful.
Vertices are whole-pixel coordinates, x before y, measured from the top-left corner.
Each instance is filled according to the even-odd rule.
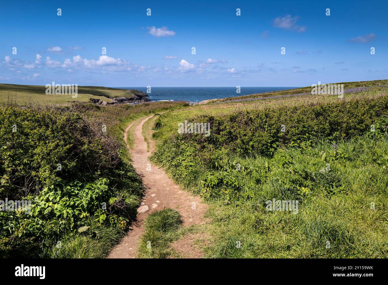
[[[135,258],[138,242],[144,231],[144,219],[151,212],[162,210],[164,207],[169,207],[180,212],[184,226],[205,223],[203,214],[207,209],[206,204],[199,197],[194,197],[180,190],[179,186],[168,178],[163,169],[152,165],[148,160],[154,144],[150,143],[150,149],[147,152],[147,143],[142,135],[142,128],[143,124],[153,116],[134,121],[124,132],[124,140],[128,150],[130,150],[127,142],[128,131],[134,124],[140,121],[139,125],[135,128],[132,165],[137,174],[142,178],[145,187],[145,196],[142,199],[142,205],[138,209],[137,220],[133,221],[130,231],[121,240],[120,244],[116,245],[108,258]],[[189,251],[193,250],[190,244],[185,244],[184,247]],[[201,254],[196,253],[192,254],[192,256],[200,257]]]

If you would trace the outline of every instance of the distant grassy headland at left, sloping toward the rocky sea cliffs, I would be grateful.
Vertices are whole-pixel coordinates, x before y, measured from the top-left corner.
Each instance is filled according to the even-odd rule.
[[[69,102],[89,102],[89,98],[102,99],[107,102],[114,97],[132,97],[136,90],[108,88],[102,86],[78,86],[78,97],[67,95],[46,95],[45,86],[0,84],[0,105],[8,101],[17,105],[26,105],[32,101],[38,104],[68,104]]]

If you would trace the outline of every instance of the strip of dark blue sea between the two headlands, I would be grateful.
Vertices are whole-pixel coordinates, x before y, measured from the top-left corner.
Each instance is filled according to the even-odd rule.
[[[147,87],[114,87],[121,89],[137,89],[147,93]],[[299,87],[241,87],[241,93],[236,93],[236,87],[151,87],[147,93],[152,101],[191,101],[201,102],[209,99],[237,97],[270,91],[294,89]]]

